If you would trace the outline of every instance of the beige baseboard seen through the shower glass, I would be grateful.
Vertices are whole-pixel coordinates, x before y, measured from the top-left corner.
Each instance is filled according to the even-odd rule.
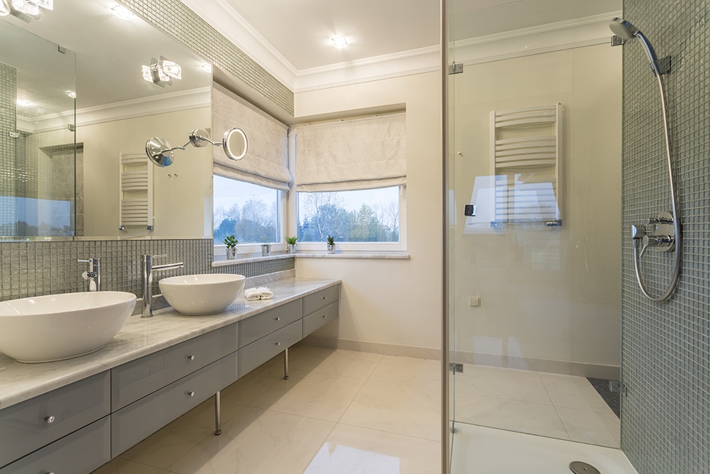
[[[517,357],[512,355],[482,354],[480,352],[456,351],[454,355],[456,362],[463,362],[464,364],[505,367],[509,369],[549,372],[562,375],[577,375],[577,377],[592,377],[595,379],[621,379],[621,367],[615,365],[535,359],[532,357]]]

